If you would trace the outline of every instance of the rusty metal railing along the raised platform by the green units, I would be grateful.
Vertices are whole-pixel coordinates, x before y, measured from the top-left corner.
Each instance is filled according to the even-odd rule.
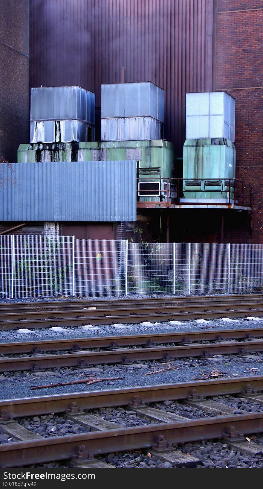
[[[162,207],[189,204],[251,207],[252,184],[237,178],[138,178],[137,203]]]

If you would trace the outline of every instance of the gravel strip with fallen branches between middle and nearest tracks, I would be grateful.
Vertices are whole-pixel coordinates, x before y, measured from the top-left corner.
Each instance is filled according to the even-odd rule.
[[[144,360],[128,365],[121,363],[109,365],[96,365],[85,368],[61,367],[46,369],[43,372],[5,372],[0,376],[1,399],[14,399],[23,397],[36,397],[70,392],[94,391],[103,389],[118,389],[123,387],[156,385],[166,383],[191,382],[213,378],[210,374],[217,370],[219,378],[251,377],[263,375],[263,354],[253,355],[251,360],[240,355],[214,356],[210,358],[178,358],[174,361]],[[172,366],[169,370],[151,375],[144,375]],[[251,370],[251,368],[253,370]],[[81,380],[87,376],[93,378],[119,378],[121,380],[106,380],[87,385],[87,383],[73,384],[58,387],[45,387],[30,390],[31,386],[55,384]],[[87,379],[88,380],[88,379]]]

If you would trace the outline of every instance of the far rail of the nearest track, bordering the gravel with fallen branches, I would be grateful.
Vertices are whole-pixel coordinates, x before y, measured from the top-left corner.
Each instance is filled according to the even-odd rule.
[[[143,403],[182,400],[190,397],[193,391],[197,396],[206,397],[239,394],[246,390],[251,392],[251,394],[263,391],[263,376],[194,380],[193,382],[180,382],[177,384],[144,385],[103,391],[90,390],[72,394],[0,400],[0,417],[4,420],[9,417],[18,418],[61,413],[72,406],[77,410],[78,408],[97,409],[101,407],[125,406],[133,402],[135,397],[138,397]]]

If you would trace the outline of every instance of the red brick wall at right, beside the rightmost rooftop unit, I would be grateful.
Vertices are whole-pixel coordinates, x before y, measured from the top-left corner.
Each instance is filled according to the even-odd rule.
[[[254,195],[252,235],[244,219],[233,218],[236,242],[263,243],[262,46],[262,0],[218,0],[215,89],[226,90],[236,99],[236,177],[252,183]],[[228,226],[230,231],[229,220]]]

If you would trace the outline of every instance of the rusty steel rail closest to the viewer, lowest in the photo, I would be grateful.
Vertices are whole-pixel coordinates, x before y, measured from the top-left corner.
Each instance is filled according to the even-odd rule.
[[[70,459],[73,455],[77,455],[80,446],[84,446],[87,454],[100,455],[112,451],[151,448],[160,436],[170,444],[222,438],[233,427],[239,434],[262,432],[263,412],[149,424],[3,444],[0,445],[0,467],[18,467]]]

